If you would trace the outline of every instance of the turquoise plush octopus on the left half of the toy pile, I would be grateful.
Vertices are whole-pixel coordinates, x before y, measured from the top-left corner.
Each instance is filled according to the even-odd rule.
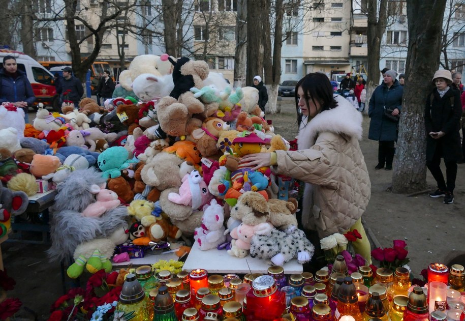
[[[121,170],[131,166],[135,161],[128,159],[129,153],[124,147],[114,146],[99,155],[98,165],[103,171],[103,178],[117,178]]]

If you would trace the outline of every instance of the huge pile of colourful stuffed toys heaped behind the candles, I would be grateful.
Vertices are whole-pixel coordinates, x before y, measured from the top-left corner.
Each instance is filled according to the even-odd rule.
[[[21,122],[21,109],[0,106],[2,180],[29,195],[36,180],[53,183],[48,254],[74,258],[70,277],[181,237],[277,265],[311,259],[292,179],[239,163],[289,149],[264,120],[254,87],[233,90],[205,62],[166,54],[136,57],[120,82],[132,96],[64,103],[62,113],[40,106],[33,126]]]

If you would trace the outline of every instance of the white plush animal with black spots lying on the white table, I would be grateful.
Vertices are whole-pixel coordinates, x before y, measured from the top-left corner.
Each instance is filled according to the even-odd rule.
[[[277,266],[293,258],[303,264],[312,259],[314,252],[315,247],[300,229],[285,232],[273,228],[269,235],[254,235],[250,247],[250,256],[270,259]]]

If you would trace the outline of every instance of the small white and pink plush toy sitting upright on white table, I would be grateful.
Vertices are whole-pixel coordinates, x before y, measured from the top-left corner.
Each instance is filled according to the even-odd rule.
[[[202,225],[195,229],[194,239],[202,251],[214,249],[226,240],[223,207],[212,199],[203,209]]]

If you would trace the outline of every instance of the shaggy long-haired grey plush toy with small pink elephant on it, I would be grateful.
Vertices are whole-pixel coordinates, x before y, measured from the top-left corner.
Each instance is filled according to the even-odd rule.
[[[73,171],[56,186],[58,194],[50,222],[52,246],[47,251],[50,260],[69,259],[82,242],[108,238],[116,229],[127,226],[128,210],[124,206],[109,210],[99,218],[82,215],[82,211],[96,201],[91,186],[105,184],[100,171],[87,168]]]

